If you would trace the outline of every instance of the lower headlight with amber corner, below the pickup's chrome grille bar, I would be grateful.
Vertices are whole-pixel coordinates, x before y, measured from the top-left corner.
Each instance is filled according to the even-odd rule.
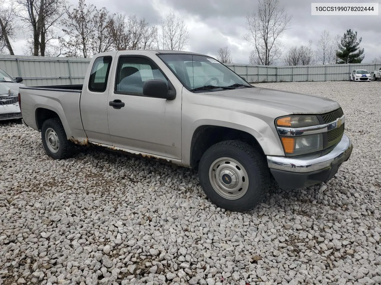
[[[323,134],[281,137],[286,155],[301,155],[323,150]]]

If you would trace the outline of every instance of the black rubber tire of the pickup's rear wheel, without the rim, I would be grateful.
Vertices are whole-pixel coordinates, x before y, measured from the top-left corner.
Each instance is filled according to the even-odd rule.
[[[46,141],[46,133],[51,130],[53,130],[56,134],[56,138],[58,139],[58,151],[53,152],[48,144],[49,142]],[[69,141],[67,139],[64,126],[61,123],[60,119],[54,118],[54,119],[48,119],[43,122],[41,127],[41,138],[42,138],[42,144],[44,146],[45,152],[47,155],[49,155],[53,159],[65,159],[69,158],[72,155],[72,151],[74,149],[74,143]],[[50,144],[51,145],[51,144]]]

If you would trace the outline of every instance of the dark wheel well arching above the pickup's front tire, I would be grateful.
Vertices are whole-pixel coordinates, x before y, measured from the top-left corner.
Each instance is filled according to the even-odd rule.
[[[227,140],[246,142],[259,150],[263,155],[263,149],[253,135],[233,128],[204,125],[198,127],[193,133],[191,145],[191,167],[197,169],[204,152],[213,144]]]

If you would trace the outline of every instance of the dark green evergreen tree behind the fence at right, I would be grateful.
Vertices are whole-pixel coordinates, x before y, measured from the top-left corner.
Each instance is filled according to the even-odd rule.
[[[337,57],[340,60],[338,63],[361,63],[365,57],[364,49],[359,47],[361,40],[362,38],[357,40],[357,31],[347,30],[339,43]]]

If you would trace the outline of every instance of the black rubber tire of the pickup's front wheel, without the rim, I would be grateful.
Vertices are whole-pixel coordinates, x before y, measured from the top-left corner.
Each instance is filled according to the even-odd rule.
[[[217,175],[213,173],[218,173],[218,171],[213,172],[213,170],[215,170],[214,168],[211,170],[211,179],[209,171],[216,160],[225,157],[232,158],[240,163],[248,175],[248,186],[245,187],[247,190],[242,197],[227,199],[213,188],[212,183],[214,182],[211,180],[213,180],[213,175],[217,177]],[[218,167],[219,166],[217,166],[217,168]],[[238,169],[241,170],[240,168]],[[223,141],[211,146],[202,155],[199,164],[199,178],[205,194],[216,206],[230,211],[248,211],[261,203],[264,194],[270,188],[270,177],[270,171],[263,155],[258,152],[258,150],[241,141]],[[229,179],[231,180],[231,178]],[[243,179],[243,181],[245,181],[245,179]]]

